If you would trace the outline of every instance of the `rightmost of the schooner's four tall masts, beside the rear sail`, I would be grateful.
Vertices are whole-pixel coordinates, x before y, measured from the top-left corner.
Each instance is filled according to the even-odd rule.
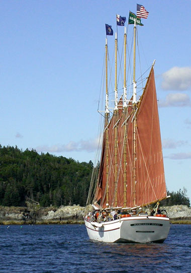
[[[136,206],[136,117],[135,112],[137,109],[136,100],[136,82],[135,82],[135,53],[136,53],[136,19],[134,19],[134,54],[133,54],[133,206]]]

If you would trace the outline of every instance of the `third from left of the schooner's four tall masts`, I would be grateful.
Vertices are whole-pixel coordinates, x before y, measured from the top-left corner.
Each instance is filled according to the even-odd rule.
[[[127,115],[127,87],[126,87],[126,48],[127,48],[127,34],[126,34],[126,27],[125,27],[125,33],[124,33],[124,119],[126,120],[126,115]],[[127,187],[126,187],[126,180],[127,180],[127,172],[126,172],[126,169],[127,169],[127,152],[126,152],[126,122],[124,124],[124,152],[123,152],[123,155],[124,155],[124,202],[123,202],[123,206],[124,208],[126,208],[126,203],[127,203],[127,197],[126,197],[126,192],[127,192]]]

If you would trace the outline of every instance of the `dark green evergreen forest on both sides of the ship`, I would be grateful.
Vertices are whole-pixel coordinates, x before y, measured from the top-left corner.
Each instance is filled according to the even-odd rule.
[[[75,161],[35,150],[0,145],[0,206],[26,206],[27,199],[42,207],[85,206],[93,163]],[[186,189],[167,192],[165,206],[190,206]]]

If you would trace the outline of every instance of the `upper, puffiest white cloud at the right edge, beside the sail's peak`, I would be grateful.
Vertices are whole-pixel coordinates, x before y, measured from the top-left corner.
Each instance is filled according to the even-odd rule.
[[[164,90],[188,90],[191,87],[191,67],[174,66],[162,74]]]

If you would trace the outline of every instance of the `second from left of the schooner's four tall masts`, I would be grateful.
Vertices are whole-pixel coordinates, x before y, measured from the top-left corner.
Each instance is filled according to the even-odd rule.
[[[114,115],[115,115],[115,122],[117,122],[117,116],[118,116],[118,90],[117,90],[117,47],[118,47],[118,40],[117,40],[117,33],[115,38],[115,109],[114,109]],[[115,207],[117,207],[117,124],[114,128],[114,134],[115,134],[115,146],[114,146],[114,174],[115,174]]]

